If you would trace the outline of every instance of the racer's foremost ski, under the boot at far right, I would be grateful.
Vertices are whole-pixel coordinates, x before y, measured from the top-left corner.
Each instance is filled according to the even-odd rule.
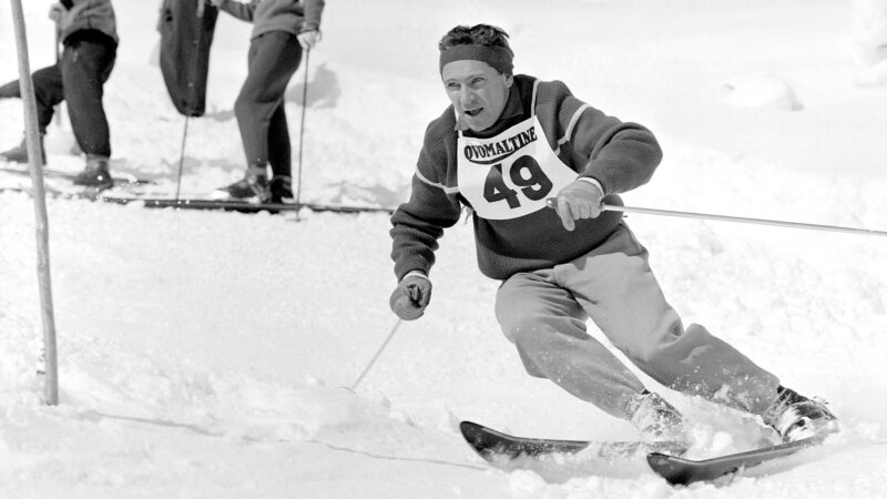
[[[646,461],[653,471],[669,483],[689,485],[695,481],[715,480],[725,475],[752,468],[773,459],[791,456],[822,444],[824,439],[825,435],[818,435],[802,440],[702,460],[652,452],[646,457]]]

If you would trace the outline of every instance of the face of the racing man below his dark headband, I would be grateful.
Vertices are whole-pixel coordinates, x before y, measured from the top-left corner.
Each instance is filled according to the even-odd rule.
[[[508,102],[510,74],[502,74],[482,61],[452,61],[441,71],[443,88],[462,121],[475,132],[496,123]]]

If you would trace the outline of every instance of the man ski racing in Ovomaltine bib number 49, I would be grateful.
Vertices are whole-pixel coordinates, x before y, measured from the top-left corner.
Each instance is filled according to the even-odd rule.
[[[391,216],[398,317],[424,315],[437,240],[465,206],[480,269],[502,282],[496,317],[530,375],[630,420],[644,439],[683,440],[679,410],[587,333],[590,317],[669,388],[758,415],[785,440],[837,429],[823,403],[782,387],[703,326],[684,328],[621,213],[601,210],[659,165],[648,129],[560,81],[514,75],[499,28],[456,27],[439,51],[452,105],[428,125],[409,201]]]

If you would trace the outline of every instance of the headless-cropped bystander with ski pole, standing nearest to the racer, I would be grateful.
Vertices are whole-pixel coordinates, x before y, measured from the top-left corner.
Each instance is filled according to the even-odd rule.
[[[248,74],[234,104],[247,169],[242,180],[216,190],[213,196],[281,203],[293,197],[284,93],[298,69],[302,50],[310,50],[320,41],[324,0],[249,3],[212,0],[212,3],[254,24]]]

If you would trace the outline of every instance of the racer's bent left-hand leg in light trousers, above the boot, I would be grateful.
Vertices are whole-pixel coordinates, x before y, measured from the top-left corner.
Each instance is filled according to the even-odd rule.
[[[516,274],[499,288],[496,317],[527,371],[622,419],[644,387],[585,332],[587,315],[551,271]]]

